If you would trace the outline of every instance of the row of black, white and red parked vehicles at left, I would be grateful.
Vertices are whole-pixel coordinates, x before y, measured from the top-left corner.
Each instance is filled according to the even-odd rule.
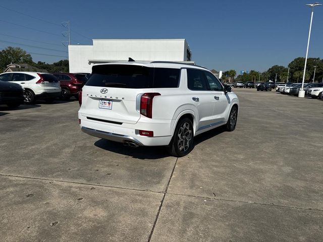
[[[36,99],[52,102],[56,98],[78,98],[88,78],[80,73],[8,72],[0,74],[0,104],[18,107]]]

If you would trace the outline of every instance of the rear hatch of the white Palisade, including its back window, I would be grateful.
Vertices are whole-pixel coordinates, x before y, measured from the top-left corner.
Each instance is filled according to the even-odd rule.
[[[140,94],[152,92],[153,68],[140,65],[98,65],[83,87],[81,115],[112,124],[135,124]],[[139,99],[140,100],[140,99]]]

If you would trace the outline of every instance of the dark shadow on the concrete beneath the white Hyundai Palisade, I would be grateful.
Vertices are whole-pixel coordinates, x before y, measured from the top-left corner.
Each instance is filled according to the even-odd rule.
[[[205,132],[203,134],[200,134],[196,137],[194,137],[194,144],[193,146],[198,145],[199,143],[208,140],[210,138],[213,138],[214,136],[217,136],[223,132],[225,132],[226,129],[224,126],[215,128],[213,130],[210,130],[208,132]],[[94,145],[98,148],[111,151],[114,153],[122,154],[125,156],[131,156],[136,159],[161,159],[165,157],[171,156],[166,147],[164,146],[139,146],[137,148],[124,146],[121,143],[112,142],[104,139],[100,139],[94,143]]]

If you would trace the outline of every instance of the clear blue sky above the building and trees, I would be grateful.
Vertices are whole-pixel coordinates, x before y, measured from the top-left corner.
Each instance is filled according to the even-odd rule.
[[[69,20],[72,44],[91,44],[95,38],[185,38],[197,65],[223,71],[235,69],[237,73],[265,71],[305,56],[311,13],[305,4],[312,2],[2,1],[0,49],[17,46],[38,53],[32,54],[35,62],[64,59],[67,47],[61,41],[67,39],[61,32],[66,29],[60,23]],[[309,57],[323,58],[322,30],[320,6],[314,9]]]

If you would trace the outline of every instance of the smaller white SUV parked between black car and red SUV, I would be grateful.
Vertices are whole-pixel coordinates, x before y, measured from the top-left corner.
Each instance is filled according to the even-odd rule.
[[[48,73],[6,72],[0,74],[0,80],[21,85],[25,89],[26,104],[34,103],[38,98],[50,102],[59,97],[62,91],[59,80]]]

